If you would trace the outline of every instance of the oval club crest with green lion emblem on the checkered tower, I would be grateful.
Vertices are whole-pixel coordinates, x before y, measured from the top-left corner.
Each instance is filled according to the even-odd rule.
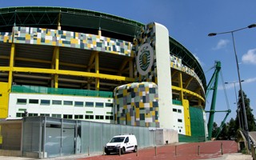
[[[136,66],[139,74],[146,75],[153,65],[154,52],[149,43],[143,44],[136,58]]]

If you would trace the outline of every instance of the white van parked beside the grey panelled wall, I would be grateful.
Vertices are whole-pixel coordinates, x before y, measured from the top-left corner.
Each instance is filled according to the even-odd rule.
[[[126,153],[126,151],[137,151],[137,139],[134,134],[122,134],[111,138],[110,142],[106,143],[105,153],[109,155],[110,153],[118,153],[121,149],[121,154]]]

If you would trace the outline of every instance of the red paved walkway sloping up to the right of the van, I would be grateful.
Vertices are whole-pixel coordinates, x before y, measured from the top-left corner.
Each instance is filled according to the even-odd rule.
[[[113,159],[207,159],[222,157],[221,143],[223,148],[223,154],[231,154],[238,152],[238,145],[234,141],[214,141],[214,142],[194,142],[186,144],[166,145],[157,147],[157,155],[155,156],[154,147],[138,150],[138,156],[136,153],[127,153],[119,156],[118,154],[99,155],[94,157],[79,158],[79,160],[113,160]],[[200,154],[198,155],[198,146],[200,146]]]

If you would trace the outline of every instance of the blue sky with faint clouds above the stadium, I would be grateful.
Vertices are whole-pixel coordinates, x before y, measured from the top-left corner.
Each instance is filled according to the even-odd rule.
[[[172,38],[182,43],[186,49],[201,63],[205,70],[206,80],[214,70],[214,61],[222,62],[224,82],[238,82],[238,73],[234,58],[231,34],[220,34],[208,37],[211,32],[225,32],[256,23],[256,1],[254,0],[0,0],[0,7],[10,6],[64,6],[84,10],[94,10],[114,14],[144,24],[158,22],[166,26]],[[256,28],[234,33],[235,46],[241,73],[242,89],[250,98],[250,107],[256,114]],[[216,110],[227,110],[222,80],[219,79],[219,90]],[[239,86],[237,84],[238,91]],[[235,117],[236,105],[234,85],[226,85],[226,94],[232,110],[229,118]],[[207,99],[206,110],[210,110],[211,98]],[[214,121],[220,122],[224,113],[216,113]]]

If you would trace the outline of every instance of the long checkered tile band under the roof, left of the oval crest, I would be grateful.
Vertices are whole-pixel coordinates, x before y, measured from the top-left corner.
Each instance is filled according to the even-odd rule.
[[[14,26],[13,33],[14,39],[12,39],[11,33],[0,33],[0,42],[66,46],[133,57],[131,42],[99,35],[21,26]]]

